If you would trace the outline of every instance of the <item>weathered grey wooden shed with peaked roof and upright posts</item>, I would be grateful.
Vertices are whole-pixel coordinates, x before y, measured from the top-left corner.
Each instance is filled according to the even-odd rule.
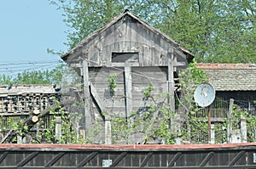
[[[170,94],[166,102],[175,111],[178,71],[186,69],[193,58],[129,10],[62,55],[83,77],[85,127],[102,117],[106,144],[111,144],[111,114],[127,117],[147,108],[150,100],[144,102],[143,91],[150,84],[155,94]]]

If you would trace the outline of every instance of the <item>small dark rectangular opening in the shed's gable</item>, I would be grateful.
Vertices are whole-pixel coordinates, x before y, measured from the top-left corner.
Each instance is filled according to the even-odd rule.
[[[112,62],[138,62],[138,53],[112,53]]]

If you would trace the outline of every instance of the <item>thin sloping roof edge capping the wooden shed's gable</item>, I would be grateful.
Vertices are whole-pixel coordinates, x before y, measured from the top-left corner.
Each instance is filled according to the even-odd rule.
[[[178,50],[180,50],[181,52],[183,52],[183,54],[188,54],[190,56],[190,59],[193,59],[195,56],[194,54],[190,53],[188,50],[186,50],[185,48],[182,48],[179,46],[179,44],[177,44],[177,42],[174,42],[172,40],[172,38],[166,36],[164,33],[154,29],[153,27],[151,27],[150,25],[148,25],[147,22],[141,20],[139,17],[137,17],[135,14],[131,14],[131,12],[128,9],[125,9],[125,12],[123,14],[120,14],[119,16],[117,16],[116,18],[114,18],[113,20],[110,20],[108,22],[107,25],[104,25],[101,29],[99,29],[98,31],[95,31],[93,34],[91,34],[89,37],[86,37],[82,42],[80,42],[75,48],[71,49],[70,51],[68,51],[66,54],[63,54],[61,56],[61,59],[66,60],[67,56],[70,54],[73,54],[76,50],[78,50],[79,48],[82,48],[84,46],[84,44],[90,42],[92,39],[94,39],[96,36],[98,36],[99,34],[101,34],[103,31],[107,30],[108,27],[110,27],[111,25],[114,25],[116,22],[118,22],[119,20],[121,20],[123,17],[125,17],[126,15],[130,16],[131,18],[133,18],[134,20],[137,20],[137,22],[139,22],[140,24],[142,24],[143,26],[145,26],[146,28],[148,28],[148,30],[153,31],[155,34],[163,37],[164,39],[166,39],[167,42],[171,42],[173,44],[174,47],[176,47]]]

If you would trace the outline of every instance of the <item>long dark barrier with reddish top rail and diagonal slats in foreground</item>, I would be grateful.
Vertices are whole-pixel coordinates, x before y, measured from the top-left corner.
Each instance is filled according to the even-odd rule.
[[[0,144],[0,168],[256,168],[256,144]]]

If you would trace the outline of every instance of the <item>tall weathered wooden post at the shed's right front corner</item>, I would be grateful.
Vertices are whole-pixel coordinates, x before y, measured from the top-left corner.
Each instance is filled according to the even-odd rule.
[[[173,48],[170,48],[167,54],[168,58],[168,93],[169,93],[169,105],[170,111],[175,112],[175,98],[174,98],[174,76],[173,76]],[[174,116],[171,115],[171,132],[177,132],[176,122]]]

